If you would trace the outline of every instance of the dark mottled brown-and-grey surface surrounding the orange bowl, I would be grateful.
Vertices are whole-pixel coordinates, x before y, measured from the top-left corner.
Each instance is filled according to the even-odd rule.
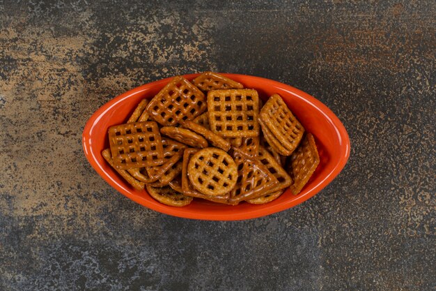
[[[0,0],[0,290],[435,290],[435,9]],[[251,221],[173,218],[114,191],[82,154],[88,117],[203,70],[316,96],[348,129],[343,172]]]

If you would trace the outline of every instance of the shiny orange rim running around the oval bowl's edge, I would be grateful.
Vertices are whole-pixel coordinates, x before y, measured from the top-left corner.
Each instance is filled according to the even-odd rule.
[[[148,200],[141,199],[139,195],[133,195],[130,193],[130,189],[123,187],[122,185],[118,184],[116,181],[114,181],[113,177],[111,177],[108,172],[106,172],[98,163],[98,160],[93,155],[93,146],[92,146],[92,129],[95,124],[98,124],[100,119],[102,118],[102,115],[104,115],[105,112],[111,110],[113,107],[118,105],[119,103],[123,103],[123,101],[130,98],[130,96],[134,96],[137,94],[141,94],[143,91],[147,91],[150,88],[166,84],[171,80],[173,77],[167,77],[162,80],[158,80],[155,82],[150,82],[147,84],[143,84],[139,87],[136,87],[134,89],[130,89],[129,91],[126,91],[123,94],[120,94],[116,96],[115,98],[112,98],[107,103],[102,105],[98,110],[96,110],[91,117],[86,121],[86,124],[84,126],[84,130],[82,133],[82,146],[84,149],[84,154],[86,156],[86,159],[91,164],[93,169],[102,177],[107,183],[115,188],[118,192],[125,195],[126,197],[130,198],[134,202],[137,202],[144,207],[147,207],[149,209],[153,209],[155,211],[161,212],[163,214],[168,214],[171,216],[178,216],[182,218],[191,218],[191,219],[200,219],[200,220],[209,220],[209,221],[238,221],[238,220],[245,220],[245,219],[251,219],[251,218],[258,218],[261,216],[267,216],[270,214],[277,213],[279,211],[283,211],[286,209],[289,209],[291,207],[296,206],[297,204],[301,204],[302,202],[308,200],[309,198],[313,197],[317,193],[319,193],[322,188],[325,188],[330,182],[333,181],[333,179],[341,172],[343,167],[345,167],[345,164],[348,161],[348,158],[350,157],[350,138],[348,136],[347,130],[345,129],[345,126],[341,123],[341,121],[336,117],[336,114],[332,112],[326,105],[324,105],[320,100],[314,98],[313,96],[307,94],[304,91],[301,91],[295,87],[292,87],[288,84],[283,84],[278,81],[270,80],[264,77],[256,77],[252,75],[242,75],[242,74],[233,74],[233,73],[219,73],[221,75],[224,75],[226,77],[238,77],[238,78],[251,78],[252,80],[256,80],[259,83],[269,83],[270,86],[277,87],[281,90],[287,91],[289,94],[292,94],[295,98],[302,99],[308,103],[311,103],[314,107],[317,107],[320,112],[325,116],[326,119],[334,126],[336,130],[336,135],[338,137],[338,140],[341,144],[341,147],[338,149],[340,151],[339,158],[337,161],[335,161],[335,165],[332,171],[330,171],[322,181],[320,181],[318,184],[313,186],[313,188],[310,189],[310,191],[302,191],[294,200],[287,200],[286,202],[283,202],[281,204],[275,204],[271,207],[263,207],[263,208],[256,208],[256,205],[253,205],[253,207],[250,207],[249,209],[244,209],[244,211],[235,211],[235,213],[232,214],[218,214],[218,213],[195,213],[193,211],[189,211],[185,207],[169,207],[167,205],[161,204],[160,202],[154,201],[150,202]],[[200,73],[195,74],[187,74],[182,75],[183,77],[187,78],[188,80],[192,80],[194,77],[201,75]],[[146,191],[146,190],[144,190]],[[267,204],[264,204],[264,206]],[[226,207],[226,206],[223,206]],[[233,207],[233,206],[230,206]]]

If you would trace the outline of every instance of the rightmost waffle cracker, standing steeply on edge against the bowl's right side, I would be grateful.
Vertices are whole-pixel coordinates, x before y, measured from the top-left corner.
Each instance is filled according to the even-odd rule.
[[[311,133],[307,133],[299,147],[290,156],[289,174],[294,179],[290,191],[294,195],[302,191],[319,163],[320,156],[318,155],[318,149],[316,149],[315,139]]]

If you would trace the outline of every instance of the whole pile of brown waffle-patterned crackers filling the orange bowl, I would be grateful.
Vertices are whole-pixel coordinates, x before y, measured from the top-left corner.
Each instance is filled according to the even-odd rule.
[[[297,195],[320,163],[315,140],[278,94],[205,72],[174,77],[109,128],[102,156],[130,185],[174,207],[194,197],[265,204]]]

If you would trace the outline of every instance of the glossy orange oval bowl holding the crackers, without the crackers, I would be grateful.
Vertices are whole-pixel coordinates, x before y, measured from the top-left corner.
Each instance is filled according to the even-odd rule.
[[[192,80],[198,75],[185,77]],[[243,202],[231,206],[195,198],[186,207],[170,207],[154,200],[145,190],[137,191],[127,184],[102,158],[102,150],[109,147],[107,130],[109,126],[125,123],[141,99],[153,98],[171,78],[127,91],[104,104],[91,116],[82,135],[84,152],[89,163],[117,191],[145,207],[172,216],[214,221],[256,218],[294,207],[316,195],[341,172],[350,156],[350,139],[341,121],[327,106],[309,94],[280,82],[249,75],[222,75],[244,84],[247,88],[256,89],[263,100],[267,100],[274,93],[280,94],[304,128],[315,137],[320,165],[298,195],[287,190],[276,200],[263,205]]]

